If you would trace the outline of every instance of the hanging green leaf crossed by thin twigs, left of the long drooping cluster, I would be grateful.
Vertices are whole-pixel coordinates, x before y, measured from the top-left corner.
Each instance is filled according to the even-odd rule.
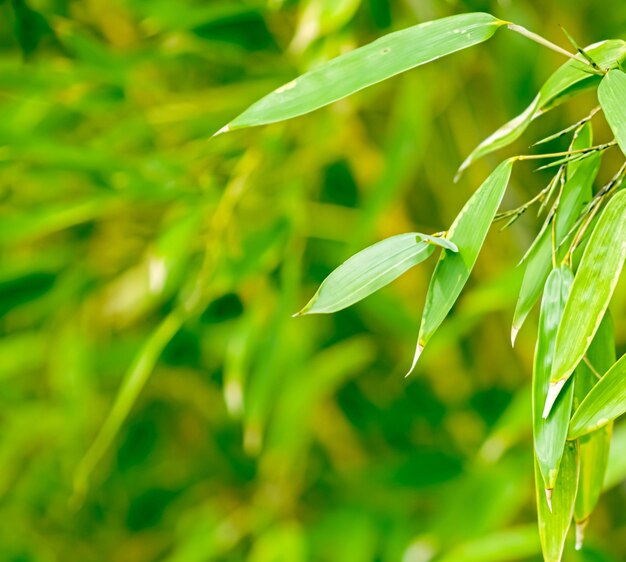
[[[591,124],[587,123],[572,143],[573,150],[592,146]],[[568,166],[568,180],[563,186],[555,225],[555,242],[558,245],[576,222],[584,205],[591,199],[592,186],[600,169],[601,155],[594,154],[582,162]],[[565,248],[560,252],[563,254]],[[557,256],[559,257],[559,256]],[[561,256],[562,257],[562,256]],[[513,314],[511,341],[515,343],[517,333],[541,295],[543,286],[552,269],[552,232],[550,228],[541,231],[536,242],[523,260],[526,263],[524,278]]]

